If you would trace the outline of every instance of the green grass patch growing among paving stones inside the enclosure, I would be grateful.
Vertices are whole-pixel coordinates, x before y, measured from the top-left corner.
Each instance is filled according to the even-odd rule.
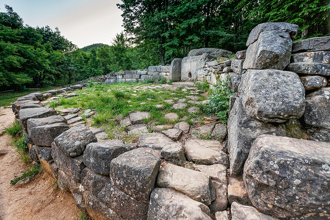
[[[118,115],[127,117],[129,113],[141,111],[149,112],[150,118],[143,121],[144,124],[154,123],[154,125],[174,124],[179,120],[172,122],[164,119],[164,115],[168,113],[176,113],[179,118],[187,117],[186,122],[192,124],[193,118],[204,118],[203,112],[190,114],[187,108],[196,106],[187,102],[187,107],[184,109],[173,109],[171,104],[164,102],[166,99],[181,99],[189,94],[189,91],[182,91],[184,87],[179,87],[176,90],[164,88],[166,84],[144,84],[144,83],[120,83],[112,85],[91,85],[83,90],[77,90],[77,97],[58,98],[50,102],[51,107],[81,107],[84,109],[96,109],[96,114],[92,117],[91,125],[102,127],[109,134],[109,138],[117,138],[125,140],[127,143],[135,142],[137,137],[134,135],[124,135],[124,130],[115,123]],[[199,100],[205,100],[206,97],[197,94]],[[154,105],[162,104],[158,108]]]

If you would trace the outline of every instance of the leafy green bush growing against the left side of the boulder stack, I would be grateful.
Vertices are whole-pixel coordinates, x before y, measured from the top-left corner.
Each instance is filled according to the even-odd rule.
[[[213,94],[209,97],[210,101],[200,106],[204,113],[217,115],[219,121],[223,124],[226,124],[228,121],[229,97],[233,94],[233,91],[228,89],[228,82],[230,82],[229,77],[227,77],[226,81],[218,81]]]

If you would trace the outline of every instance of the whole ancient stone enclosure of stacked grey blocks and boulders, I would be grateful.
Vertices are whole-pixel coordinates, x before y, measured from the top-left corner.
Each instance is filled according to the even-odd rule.
[[[193,133],[178,141],[192,132],[184,122],[142,132],[148,113],[137,112],[120,119],[141,133],[136,148],[79,124],[80,109],[59,116],[40,103],[54,93],[74,96],[70,90],[83,84],[21,97],[13,112],[30,157],[93,219],[330,219],[330,37],[292,43],[297,31],[294,24],[262,23],[234,60],[217,62],[232,52],[204,48],[169,66],[98,79],[216,84],[229,77],[235,94],[227,127],[210,120],[195,130],[218,131],[211,138],[226,142]]]

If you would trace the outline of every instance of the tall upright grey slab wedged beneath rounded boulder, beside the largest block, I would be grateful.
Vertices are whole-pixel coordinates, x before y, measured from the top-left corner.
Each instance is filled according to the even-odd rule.
[[[253,119],[244,110],[241,98],[238,98],[228,119],[228,152],[230,175],[240,176],[249,155],[252,142],[260,134],[284,136],[285,127]]]

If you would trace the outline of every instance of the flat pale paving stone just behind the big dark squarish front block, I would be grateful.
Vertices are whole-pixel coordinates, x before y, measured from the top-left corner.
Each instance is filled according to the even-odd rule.
[[[151,148],[158,151],[172,142],[174,141],[161,133],[143,133],[139,137],[140,148]]]

